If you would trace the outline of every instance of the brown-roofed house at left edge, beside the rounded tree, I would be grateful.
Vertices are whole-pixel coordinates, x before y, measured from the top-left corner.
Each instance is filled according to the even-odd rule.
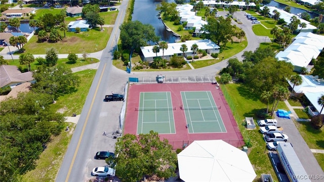
[[[0,66],[0,87],[16,86],[24,82],[33,82],[32,72],[22,73],[17,66]]]

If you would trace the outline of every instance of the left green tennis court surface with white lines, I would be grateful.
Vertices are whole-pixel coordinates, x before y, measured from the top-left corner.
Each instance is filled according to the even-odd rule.
[[[137,134],[154,130],[159,134],[176,133],[170,92],[141,92]]]

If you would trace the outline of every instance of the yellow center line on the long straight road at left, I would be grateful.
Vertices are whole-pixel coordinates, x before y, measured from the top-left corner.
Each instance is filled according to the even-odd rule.
[[[106,63],[102,69],[102,72],[101,72],[101,75],[100,75],[100,78],[99,78],[99,82],[98,82],[98,85],[97,85],[97,88],[96,88],[96,92],[95,92],[95,95],[92,99],[92,102],[91,102],[91,105],[90,105],[90,109],[88,111],[88,115],[87,115],[87,118],[86,118],[86,122],[85,124],[83,125],[83,129],[82,129],[82,132],[81,132],[81,135],[80,135],[80,138],[79,138],[79,141],[77,143],[77,146],[76,146],[76,149],[75,149],[75,152],[74,152],[74,156],[73,156],[73,159],[72,159],[72,162],[71,162],[71,165],[70,165],[70,168],[69,168],[69,171],[67,173],[67,176],[66,176],[66,179],[65,179],[65,182],[68,182],[69,180],[69,177],[70,177],[70,173],[71,173],[71,170],[72,170],[72,167],[73,167],[73,164],[74,164],[74,160],[75,160],[75,157],[76,157],[76,154],[77,154],[77,151],[80,147],[80,143],[81,143],[81,140],[83,138],[83,133],[85,132],[85,129],[86,129],[86,126],[87,126],[87,123],[88,123],[88,119],[89,119],[89,116],[90,116],[90,112],[92,110],[92,106],[93,106],[93,103],[95,102],[95,98],[96,98],[96,95],[97,95],[97,91],[98,91],[98,88],[99,88],[99,84],[101,82],[101,79],[102,79],[102,76],[103,76],[103,73],[104,73],[104,70],[106,68]]]

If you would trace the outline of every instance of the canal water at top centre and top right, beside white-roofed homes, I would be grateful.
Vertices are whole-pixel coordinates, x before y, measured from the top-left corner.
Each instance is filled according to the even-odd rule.
[[[174,2],[174,0],[166,0],[168,3]],[[166,30],[165,25],[161,19],[157,18],[156,5],[160,4],[161,1],[156,0],[135,0],[134,12],[132,15],[132,21],[138,20],[143,24],[151,24],[155,28],[155,34],[161,37],[161,40],[167,42],[174,42],[177,37],[172,32]],[[267,6],[273,6],[280,9],[285,9],[286,5],[282,5],[271,1]],[[291,13],[297,15],[298,13],[306,12],[305,10],[291,7]],[[318,16],[315,13],[309,13],[311,18]]]

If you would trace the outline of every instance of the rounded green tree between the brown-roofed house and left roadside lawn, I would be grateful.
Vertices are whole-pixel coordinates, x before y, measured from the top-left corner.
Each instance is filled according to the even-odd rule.
[[[53,67],[43,65],[37,69],[33,71],[36,82],[32,85],[32,89],[37,93],[50,94],[53,99],[74,92],[79,84],[79,78],[63,65]]]

